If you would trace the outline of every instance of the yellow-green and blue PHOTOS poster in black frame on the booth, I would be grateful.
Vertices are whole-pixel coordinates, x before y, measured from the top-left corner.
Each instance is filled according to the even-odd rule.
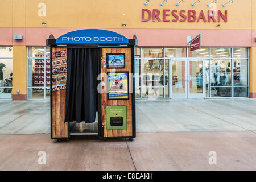
[[[108,99],[128,100],[128,72],[108,72]]]

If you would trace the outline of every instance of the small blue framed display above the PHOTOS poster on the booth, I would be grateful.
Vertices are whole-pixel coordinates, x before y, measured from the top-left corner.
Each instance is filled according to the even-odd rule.
[[[107,57],[107,68],[125,68],[125,53],[111,53]]]

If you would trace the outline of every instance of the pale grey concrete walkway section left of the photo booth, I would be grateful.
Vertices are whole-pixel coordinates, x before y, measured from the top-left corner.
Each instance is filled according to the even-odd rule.
[[[49,101],[0,101],[0,134],[49,134]]]

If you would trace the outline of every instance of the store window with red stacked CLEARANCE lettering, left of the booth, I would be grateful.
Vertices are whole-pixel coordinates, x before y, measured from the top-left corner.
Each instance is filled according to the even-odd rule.
[[[48,47],[28,47],[28,99],[49,98],[49,58]]]

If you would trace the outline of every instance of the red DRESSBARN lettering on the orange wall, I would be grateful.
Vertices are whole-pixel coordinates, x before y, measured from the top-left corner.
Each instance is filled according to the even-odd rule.
[[[196,12],[195,10],[142,9],[142,22],[228,22],[228,11],[214,10]]]

